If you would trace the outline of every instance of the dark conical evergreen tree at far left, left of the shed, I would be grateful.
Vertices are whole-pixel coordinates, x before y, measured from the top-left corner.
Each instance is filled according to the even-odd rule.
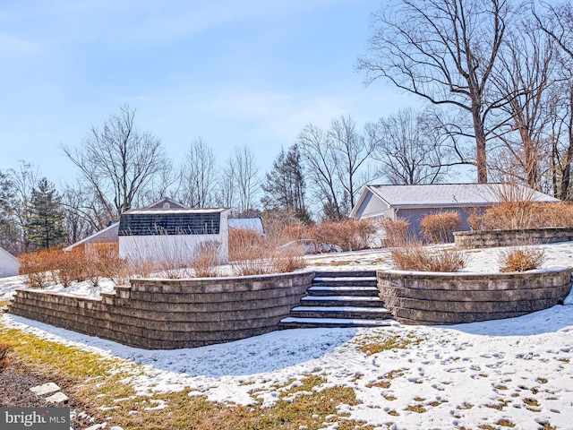
[[[26,226],[30,243],[40,249],[62,245],[64,242],[64,210],[62,197],[44,177],[32,190],[30,220]]]

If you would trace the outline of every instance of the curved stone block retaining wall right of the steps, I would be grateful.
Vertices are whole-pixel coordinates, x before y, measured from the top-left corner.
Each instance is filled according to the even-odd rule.
[[[513,273],[378,271],[378,288],[398,323],[457,324],[509,318],[557,305],[572,268]]]

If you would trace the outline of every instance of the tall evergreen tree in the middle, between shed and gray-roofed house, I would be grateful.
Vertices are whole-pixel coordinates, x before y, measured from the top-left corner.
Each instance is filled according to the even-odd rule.
[[[311,221],[304,204],[303,168],[296,144],[287,152],[280,150],[261,187],[265,193],[261,202],[266,210],[292,210],[297,219]]]

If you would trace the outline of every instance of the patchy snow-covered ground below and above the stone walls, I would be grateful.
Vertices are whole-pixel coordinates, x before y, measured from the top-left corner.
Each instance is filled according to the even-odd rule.
[[[573,244],[544,245],[545,266],[573,265]],[[499,250],[471,253],[466,271],[497,271]],[[310,257],[317,269],[389,267],[388,253]],[[9,297],[21,281],[0,280]],[[78,287],[78,290],[81,290]],[[97,294],[89,288],[84,294]],[[227,344],[143,350],[4,314],[4,326],[141,364],[128,381],[141,394],[182,391],[210,400],[272,405],[278,385],[321,375],[361,401],[341,406],[381,429],[573,428],[573,299],[535,314],[447,327],[297,329]],[[399,336],[405,348],[363,352]],[[169,408],[169,405],[163,405]],[[163,407],[162,406],[162,407]],[[336,428],[331,417],[324,428]],[[497,424],[496,424],[497,423]],[[552,427],[550,427],[551,425]]]

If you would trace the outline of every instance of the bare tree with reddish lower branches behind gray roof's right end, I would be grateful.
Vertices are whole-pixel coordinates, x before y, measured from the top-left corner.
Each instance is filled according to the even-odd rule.
[[[500,128],[502,145],[492,168],[540,189],[551,154],[546,132],[556,80],[553,42],[529,22],[520,22],[509,32],[499,59],[492,80],[500,96],[506,95],[508,103],[500,113],[508,119]]]

